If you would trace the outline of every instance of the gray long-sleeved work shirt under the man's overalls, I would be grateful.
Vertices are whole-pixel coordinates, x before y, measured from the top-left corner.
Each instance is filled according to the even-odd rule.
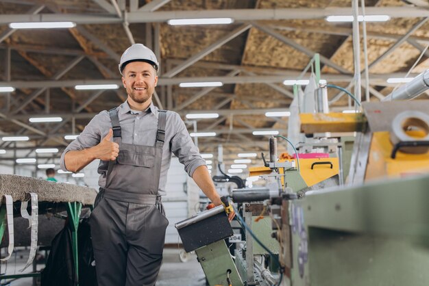
[[[156,131],[158,130],[158,107],[151,103],[149,108],[141,113],[135,113],[130,109],[128,102],[122,103],[118,109],[119,122],[121,123],[122,142],[127,144],[154,146]],[[100,112],[86,125],[76,140],[71,142],[61,155],[60,166],[66,171],[64,155],[72,150],[83,150],[93,147],[106,137],[112,128],[109,113]],[[197,146],[184,125],[180,115],[175,112],[167,112],[167,124],[165,127],[165,141],[162,147],[162,164],[159,184],[159,194],[165,195],[167,183],[167,171],[170,166],[171,153],[177,156],[188,175],[192,177],[196,168],[206,165],[206,160],[201,158]],[[98,167],[99,186],[106,186],[106,172],[108,161],[100,161]]]

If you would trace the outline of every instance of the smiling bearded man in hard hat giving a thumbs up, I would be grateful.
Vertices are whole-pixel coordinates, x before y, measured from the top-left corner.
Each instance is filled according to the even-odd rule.
[[[61,157],[62,170],[71,172],[100,159],[100,192],[90,216],[99,285],[155,285],[169,224],[161,196],[171,153],[212,203],[221,205],[179,114],[152,103],[158,69],[154,52],[143,44],[128,48],[119,63],[127,101],[97,114]]]

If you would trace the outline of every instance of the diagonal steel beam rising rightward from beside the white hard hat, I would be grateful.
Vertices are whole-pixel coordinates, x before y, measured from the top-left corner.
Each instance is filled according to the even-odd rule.
[[[172,70],[169,70],[167,73],[164,73],[164,75],[162,75],[162,77],[174,77],[175,75],[177,75],[177,73],[180,73],[182,70],[184,70],[188,66],[191,66],[195,62],[198,62],[203,57],[205,57],[206,55],[208,55],[212,51],[215,51],[215,49],[221,47],[226,42],[229,42],[233,38],[236,38],[236,36],[242,34],[244,31],[247,31],[250,27],[252,27],[252,26],[249,24],[241,25],[237,29],[234,29],[234,31],[232,31],[231,33],[223,36],[222,38],[220,38],[216,42],[210,44],[210,46],[206,47],[206,49],[203,49],[199,53],[188,58],[188,60],[184,61],[182,64],[175,66]]]

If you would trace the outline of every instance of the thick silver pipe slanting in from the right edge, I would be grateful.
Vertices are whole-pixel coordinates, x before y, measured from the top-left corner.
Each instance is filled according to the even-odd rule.
[[[420,75],[409,83],[404,84],[388,96],[384,97],[382,101],[397,101],[414,99],[423,92],[429,89],[429,69],[425,70]]]

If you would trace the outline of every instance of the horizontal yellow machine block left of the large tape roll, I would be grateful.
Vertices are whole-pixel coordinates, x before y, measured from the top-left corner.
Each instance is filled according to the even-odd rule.
[[[301,131],[306,134],[362,131],[366,124],[366,118],[361,113],[304,113],[299,114],[299,119],[301,120]]]

